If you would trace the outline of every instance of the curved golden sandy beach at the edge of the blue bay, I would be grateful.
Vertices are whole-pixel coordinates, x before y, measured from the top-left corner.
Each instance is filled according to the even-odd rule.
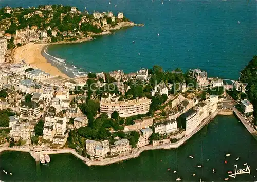
[[[38,69],[41,69],[52,76],[59,75],[65,78],[69,78],[66,74],[62,73],[58,68],[48,63],[46,58],[42,56],[41,51],[46,45],[28,43],[24,46],[18,47],[14,52],[14,63],[20,63],[24,60],[27,64],[30,64]]]

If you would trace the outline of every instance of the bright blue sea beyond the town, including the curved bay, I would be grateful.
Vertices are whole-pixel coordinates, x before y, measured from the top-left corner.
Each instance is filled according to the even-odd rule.
[[[237,79],[239,71],[257,54],[257,1],[110,2],[112,4],[109,0],[2,0],[0,5],[63,4],[80,10],[86,6],[89,12],[117,14],[121,11],[131,21],[145,24],[118,30],[91,42],[53,45],[46,50],[51,56],[65,59],[69,67],[74,65],[91,72],[115,69],[132,72],[160,65],[165,70],[180,67],[184,71],[199,67],[209,76]],[[64,64],[57,66],[63,68]]]

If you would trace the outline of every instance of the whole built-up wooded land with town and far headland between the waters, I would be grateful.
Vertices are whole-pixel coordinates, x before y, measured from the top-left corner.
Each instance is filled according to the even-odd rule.
[[[70,152],[87,165],[106,165],[144,150],[177,148],[217,114],[233,112],[256,133],[256,56],[241,80],[160,66],[69,78],[35,59],[38,54],[23,57],[24,51],[41,52],[38,43],[80,42],[136,24],[123,13],[90,15],[62,5],[3,10],[0,151],[30,152],[36,161],[40,154]],[[7,48],[15,53],[5,56]]]

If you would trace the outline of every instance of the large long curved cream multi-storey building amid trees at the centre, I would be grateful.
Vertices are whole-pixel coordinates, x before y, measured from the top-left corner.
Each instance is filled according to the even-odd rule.
[[[114,111],[117,111],[120,117],[129,117],[137,114],[146,114],[151,103],[152,100],[146,97],[117,102],[101,100],[100,112],[111,115]]]

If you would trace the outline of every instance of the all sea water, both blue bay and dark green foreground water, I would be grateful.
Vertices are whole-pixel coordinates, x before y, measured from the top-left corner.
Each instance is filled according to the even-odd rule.
[[[111,70],[128,73],[160,65],[169,71],[177,67],[183,71],[200,68],[210,77],[238,79],[240,70],[257,53],[257,1],[163,0],[163,4],[161,0],[0,1],[0,7],[41,4],[77,6],[91,13],[123,12],[131,21],[145,24],[95,37],[90,42],[52,45],[42,51],[49,62],[71,76]],[[227,153],[231,156],[226,157]],[[256,154],[257,142],[242,123],[234,116],[217,116],[178,149],[145,151],[135,159],[107,166],[88,167],[71,154],[50,155],[51,163],[44,166],[36,164],[29,153],[2,152],[0,179],[175,181],[181,177],[181,181],[224,181],[228,171],[234,173],[234,165],[245,169],[243,164],[248,163],[250,174],[238,174],[236,178],[229,177],[229,181],[257,181]]]

